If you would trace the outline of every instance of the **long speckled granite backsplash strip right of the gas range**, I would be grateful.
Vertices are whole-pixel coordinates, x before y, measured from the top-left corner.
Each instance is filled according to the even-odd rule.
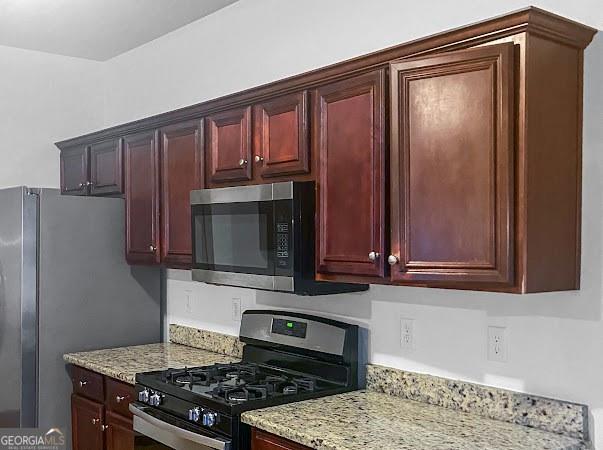
[[[367,389],[589,439],[585,405],[377,365],[367,366]]]

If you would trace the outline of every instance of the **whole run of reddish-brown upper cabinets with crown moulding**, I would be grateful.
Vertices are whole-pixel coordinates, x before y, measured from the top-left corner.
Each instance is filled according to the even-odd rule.
[[[128,261],[185,266],[194,182],[303,180],[316,183],[319,280],[579,289],[583,62],[596,32],[529,7],[65,140],[61,189],[88,195],[96,177],[117,190],[112,156],[90,160],[97,143],[110,152],[124,135],[205,118],[201,137],[186,125],[126,139]]]

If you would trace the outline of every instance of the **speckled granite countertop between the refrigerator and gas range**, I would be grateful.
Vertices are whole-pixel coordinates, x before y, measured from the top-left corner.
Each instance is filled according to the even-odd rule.
[[[239,358],[174,343],[68,353],[71,364],[134,384],[136,373],[238,361]]]

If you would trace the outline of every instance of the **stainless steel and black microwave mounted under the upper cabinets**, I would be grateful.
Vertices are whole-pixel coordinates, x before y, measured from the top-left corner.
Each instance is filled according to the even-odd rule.
[[[192,277],[299,295],[363,291],[316,281],[313,181],[191,192]]]

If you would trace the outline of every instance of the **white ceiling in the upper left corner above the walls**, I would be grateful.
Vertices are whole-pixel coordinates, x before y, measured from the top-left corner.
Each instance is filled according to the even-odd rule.
[[[0,45],[104,61],[236,0],[0,0]]]

